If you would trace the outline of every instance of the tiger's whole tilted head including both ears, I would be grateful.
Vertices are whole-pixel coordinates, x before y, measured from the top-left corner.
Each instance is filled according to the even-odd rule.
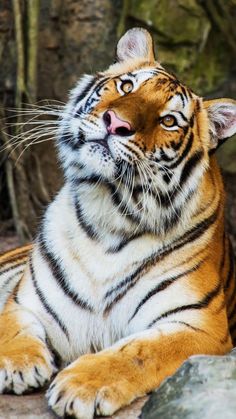
[[[72,91],[59,152],[71,182],[93,179],[116,191],[120,183],[123,195],[130,191],[126,212],[155,206],[168,219],[235,132],[236,102],[198,97],[155,60],[150,34],[134,28],[119,40],[116,63],[84,76]]]

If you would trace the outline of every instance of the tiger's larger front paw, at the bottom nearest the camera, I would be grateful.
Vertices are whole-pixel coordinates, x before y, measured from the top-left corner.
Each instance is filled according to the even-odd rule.
[[[128,381],[125,363],[118,365],[116,361],[86,355],[62,370],[47,391],[49,407],[59,417],[92,419],[95,414],[112,415],[130,404],[142,394]]]

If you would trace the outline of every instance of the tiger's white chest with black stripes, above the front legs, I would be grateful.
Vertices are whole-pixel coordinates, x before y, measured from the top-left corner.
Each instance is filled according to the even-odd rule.
[[[88,237],[64,192],[47,211],[18,298],[69,362],[149,328],[192,296],[184,282],[172,281],[184,271],[186,255],[172,254],[171,238],[164,246],[143,234],[108,252]]]

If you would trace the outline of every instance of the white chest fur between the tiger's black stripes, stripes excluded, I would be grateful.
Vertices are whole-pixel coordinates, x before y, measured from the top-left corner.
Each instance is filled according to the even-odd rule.
[[[104,216],[106,216],[105,210]],[[183,265],[178,269],[168,269],[168,272],[165,273],[166,265],[160,263],[148,274],[143,275],[142,280],[134,289],[130,290],[115,305],[111,313],[104,317],[106,292],[115,288],[124,278],[128,277],[142,260],[160,251],[164,243],[157,240],[154,235],[147,234],[131,241],[119,253],[106,253],[103,245],[88,238],[78,225],[71,203],[69,185],[65,185],[49,206],[44,220],[44,229],[47,233],[49,249],[57,255],[57,259],[64,268],[64,273],[68,278],[68,288],[73,289],[84,300],[88,300],[95,311],[88,313],[64,295],[53,279],[52,273],[36,245],[32,259],[40,289],[47,296],[47,303],[63,319],[70,340],[66,338],[50,314],[45,311],[35,293],[29,272],[29,279],[21,287],[19,301],[37,315],[43,323],[53,347],[66,363],[81,354],[91,352],[91,350],[107,348],[123,337],[130,336],[130,339],[133,339],[132,335],[144,331],[153,317],[157,317],[175,305],[191,304],[195,301],[194,293],[190,293],[185,281],[181,283],[180,280],[173,287],[162,292],[158,306],[155,298],[150,299],[148,304],[129,323],[129,318],[135,308],[150,289],[165,278],[178,275],[185,270]],[[171,242],[171,240],[170,237],[169,241]],[[165,245],[167,244],[166,241]],[[194,266],[194,264],[193,261],[192,265]],[[106,299],[106,303],[112,298],[113,295]],[[193,313],[192,316],[194,317],[194,315]],[[189,320],[191,314],[180,313],[177,317],[182,321],[186,318]],[[173,326],[172,329],[174,330]]]

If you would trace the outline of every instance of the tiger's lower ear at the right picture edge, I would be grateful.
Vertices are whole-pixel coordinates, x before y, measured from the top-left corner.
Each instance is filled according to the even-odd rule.
[[[236,101],[213,99],[203,102],[210,121],[211,148],[215,149],[236,134]]]

